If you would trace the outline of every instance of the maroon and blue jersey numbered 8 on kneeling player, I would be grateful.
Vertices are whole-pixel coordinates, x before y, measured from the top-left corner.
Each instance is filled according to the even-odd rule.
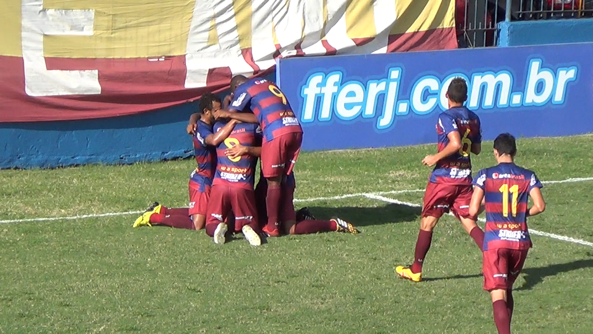
[[[225,124],[225,122],[216,122],[214,129],[218,131]],[[220,184],[253,190],[257,157],[243,155],[233,159],[229,158],[225,154],[225,150],[236,144],[243,146],[262,146],[262,135],[259,125],[250,123],[239,123],[235,125],[235,128],[227,139],[216,147],[216,173],[214,174],[212,185]]]

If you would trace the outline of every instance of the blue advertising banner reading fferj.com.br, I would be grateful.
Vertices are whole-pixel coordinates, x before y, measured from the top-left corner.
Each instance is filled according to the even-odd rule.
[[[593,43],[279,59],[304,150],[435,143],[455,77],[483,136],[593,132]]]

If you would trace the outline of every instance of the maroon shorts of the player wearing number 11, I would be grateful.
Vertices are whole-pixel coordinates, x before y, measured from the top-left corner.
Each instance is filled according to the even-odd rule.
[[[492,248],[483,252],[484,290],[510,289],[523,269],[529,250]]]

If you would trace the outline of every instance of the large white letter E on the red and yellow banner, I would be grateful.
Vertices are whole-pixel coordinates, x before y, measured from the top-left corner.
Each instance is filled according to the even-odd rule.
[[[47,70],[43,35],[92,36],[94,10],[44,9],[42,0],[21,2],[25,92],[29,96],[101,94],[97,70]]]

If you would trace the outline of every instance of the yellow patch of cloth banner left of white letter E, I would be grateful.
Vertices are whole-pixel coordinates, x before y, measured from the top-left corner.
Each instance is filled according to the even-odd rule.
[[[0,11],[0,55],[22,56],[21,1],[4,0]]]

